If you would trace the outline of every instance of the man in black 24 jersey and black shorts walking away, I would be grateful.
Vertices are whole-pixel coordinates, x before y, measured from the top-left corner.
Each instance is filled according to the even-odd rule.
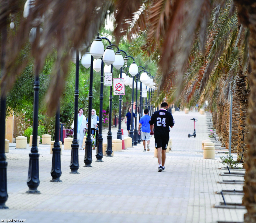
[[[158,160],[158,172],[164,170],[164,163],[166,158],[166,149],[169,141],[169,131],[174,125],[174,120],[172,114],[167,111],[168,104],[163,102],[161,104],[161,109],[155,111],[151,119],[150,124],[150,135],[155,134],[155,148],[157,148],[157,160]],[[155,128],[155,132],[154,129]]]

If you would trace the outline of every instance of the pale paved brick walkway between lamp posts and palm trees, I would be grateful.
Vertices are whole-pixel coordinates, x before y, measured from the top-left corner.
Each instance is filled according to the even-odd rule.
[[[209,114],[208,114],[209,115]],[[1,220],[26,222],[168,222],[203,223],[217,221],[243,221],[245,209],[215,208],[223,202],[220,190],[242,190],[241,184],[218,183],[223,179],[243,180],[243,177],[221,176],[224,165],[217,153],[215,160],[203,159],[201,141],[208,139],[207,115],[198,112],[173,114],[175,125],[171,129],[172,151],[167,153],[165,171],[157,172],[154,158],[154,137],[150,151],[143,153],[138,144],[127,150],[114,152],[84,167],[84,150],[79,150],[78,172],[69,174],[71,150],[61,155],[62,182],[50,182],[51,159],[49,145],[39,146],[38,190],[41,194],[26,194],[26,180],[30,147],[16,149],[10,144],[7,187],[8,210],[0,210]],[[192,134],[196,118],[196,138]],[[125,126],[125,125],[123,125]],[[124,136],[127,131],[124,128]],[[108,130],[103,131],[103,142]],[[112,129],[116,139],[117,128]],[[221,151],[221,150],[219,150]],[[222,150],[223,151],[223,150]],[[236,154],[234,155],[236,157]],[[226,202],[241,203],[242,195],[224,195]]]

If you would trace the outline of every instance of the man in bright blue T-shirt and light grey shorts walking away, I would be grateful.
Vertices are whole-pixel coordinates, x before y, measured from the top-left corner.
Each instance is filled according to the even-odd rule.
[[[150,144],[150,125],[149,120],[150,116],[148,115],[148,109],[144,109],[144,116],[140,118],[138,134],[141,135],[141,139],[143,140],[144,151],[146,152],[146,141],[147,141],[147,150],[149,151],[149,144]],[[140,131],[141,129],[141,131]]]

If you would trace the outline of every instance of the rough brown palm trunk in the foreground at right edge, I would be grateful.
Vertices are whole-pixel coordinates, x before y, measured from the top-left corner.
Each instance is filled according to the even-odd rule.
[[[251,84],[248,108],[248,150],[245,156],[245,176],[244,176],[244,197],[243,205],[247,209],[244,214],[245,223],[256,222],[256,5],[251,0],[235,0],[240,22],[250,29],[249,55],[250,72],[248,77]]]

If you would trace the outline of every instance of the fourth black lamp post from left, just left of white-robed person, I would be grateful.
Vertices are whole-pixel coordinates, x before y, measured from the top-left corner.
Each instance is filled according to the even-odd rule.
[[[74,49],[73,49],[74,50]],[[74,112],[74,138],[71,144],[71,160],[70,160],[70,174],[79,174],[79,162],[78,162],[78,140],[77,140],[77,125],[78,125],[78,117],[77,117],[77,111],[78,111],[78,96],[79,96],[79,54],[80,52],[76,49],[76,56],[75,56],[75,112]],[[73,61],[74,62],[74,61]]]

